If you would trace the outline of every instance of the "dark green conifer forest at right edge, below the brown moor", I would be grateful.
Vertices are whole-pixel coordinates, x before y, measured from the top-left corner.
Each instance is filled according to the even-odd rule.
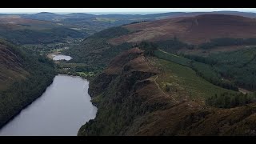
[[[186,58],[208,64],[214,68],[222,78],[246,90],[255,89],[255,62],[256,49],[235,50],[219,54],[210,54],[208,57],[186,55]]]

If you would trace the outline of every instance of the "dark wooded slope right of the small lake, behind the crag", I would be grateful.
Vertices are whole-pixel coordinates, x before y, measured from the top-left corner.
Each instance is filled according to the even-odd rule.
[[[102,70],[112,58],[122,51],[130,49],[132,46],[126,42],[122,45],[114,46],[107,42],[107,40],[127,33],[129,31],[122,27],[102,30],[86,38],[80,46],[63,50],[62,53],[68,54],[73,58],[69,61],[70,63],[86,63],[91,68]]]

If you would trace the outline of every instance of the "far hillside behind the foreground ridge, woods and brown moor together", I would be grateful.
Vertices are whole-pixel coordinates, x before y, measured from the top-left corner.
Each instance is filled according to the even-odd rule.
[[[222,66],[222,60],[235,50],[254,51],[255,30],[254,18],[234,15],[203,14],[195,17],[169,18],[102,30],[86,38],[80,46],[65,50],[64,53],[74,58],[70,62],[86,63],[90,67],[102,70],[123,50],[129,50],[131,46],[136,46],[142,41],[154,42],[158,49],[167,53],[201,62],[202,64],[191,67],[200,69],[197,71],[201,73],[199,75],[217,86],[254,91],[254,66],[249,65],[254,62],[254,53],[244,54],[245,59],[234,54],[233,59],[226,62],[225,66],[235,63],[238,59],[240,62],[237,62],[238,65],[227,66],[228,69]],[[222,58],[215,58],[223,52],[230,54],[221,54]],[[245,60],[246,62],[243,62]],[[247,69],[249,66],[250,69]],[[214,72],[206,74],[207,70]]]

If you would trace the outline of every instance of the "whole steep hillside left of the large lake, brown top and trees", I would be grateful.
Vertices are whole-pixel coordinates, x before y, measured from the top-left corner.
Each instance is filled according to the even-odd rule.
[[[41,96],[54,75],[54,62],[1,39],[0,127]]]

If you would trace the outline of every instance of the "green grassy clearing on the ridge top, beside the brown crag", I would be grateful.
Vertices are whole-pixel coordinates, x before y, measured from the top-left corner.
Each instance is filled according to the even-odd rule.
[[[214,94],[236,93],[234,90],[227,90],[209,82],[208,79],[219,81],[221,77],[213,67],[205,63],[169,54],[163,50],[156,50],[154,55],[158,58],[158,66],[165,70],[165,74],[160,75],[157,82],[162,90],[169,87],[170,94],[174,94],[174,97],[189,95],[190,99],[202,102]],[[195,70],[202,75],[199,76]],[[175,92],[172,93],[172,90]]]

